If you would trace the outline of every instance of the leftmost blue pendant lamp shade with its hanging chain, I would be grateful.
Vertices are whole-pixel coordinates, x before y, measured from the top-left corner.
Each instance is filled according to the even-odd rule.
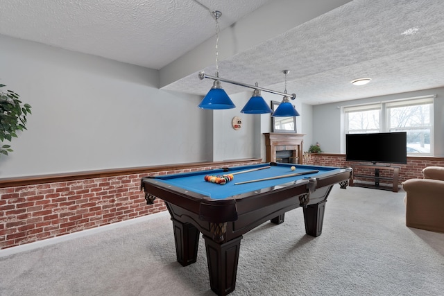
[[[210,110],[232,109],[236,107],[236,105],[234,105],[228,94],[221,87],[221,81],[217,79],[219,78],[219,21],[217,20],[221,17],[222,12],[216,10],[212,12],[212,15],[216,20],[216,80],[214,80],[210,92],[207,93],[198,107]]]

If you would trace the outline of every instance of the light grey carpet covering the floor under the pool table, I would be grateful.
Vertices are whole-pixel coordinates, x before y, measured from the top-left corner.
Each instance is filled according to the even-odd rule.
[[[302,209],[256,227],[230,295],[443,295],[444,234],[406,227],[403,198],[335,185],[321,236]],[[182,267],[166,212],[61,240],[1,250],[0,295],[214,295],[203,238]]]

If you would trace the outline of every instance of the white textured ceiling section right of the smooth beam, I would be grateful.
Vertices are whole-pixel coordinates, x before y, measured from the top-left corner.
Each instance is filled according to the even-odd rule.
[[[443,87],[443,15],[442,0],[355,0],[220,62],[220,76],[282,90],[281,71],[289,69],[289,93],[311,105]],[[418,30],[407,35],[409,28]],[[350,83],[367,77],[368,85]],[[192,81],[166,88],[205,94],[211,87]]]

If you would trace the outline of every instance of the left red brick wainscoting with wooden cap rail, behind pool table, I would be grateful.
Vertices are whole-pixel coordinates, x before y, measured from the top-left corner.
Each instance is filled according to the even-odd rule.
[[[160,199],[146,204],[140,190],[142,177],[260,162],[248,159],[181,165],[180,169],[164,166],[0,180],[0,249],[165,211]]]

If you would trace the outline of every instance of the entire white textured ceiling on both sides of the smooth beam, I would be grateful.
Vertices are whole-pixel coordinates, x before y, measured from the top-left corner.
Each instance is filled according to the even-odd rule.
[[[200,3],[223,12],[223,30],[273,1]],[[282,70],[289,69],[288,92],[311,105],[444,87],[443,15],[443,0],[350,1],[220,60],[220,76],[282,92]],[[0,34],[152,69],[162,69],[214,32],[210,12],[194,0],[0,0]],[[213,75],[214,64],[203,70]],[[199,80],[197,73],[163,89],[203,95],[212,80]],[[372,80],[350,84],[363,77]],[[246,90],[226,83],[223,88],[228,94]]]

